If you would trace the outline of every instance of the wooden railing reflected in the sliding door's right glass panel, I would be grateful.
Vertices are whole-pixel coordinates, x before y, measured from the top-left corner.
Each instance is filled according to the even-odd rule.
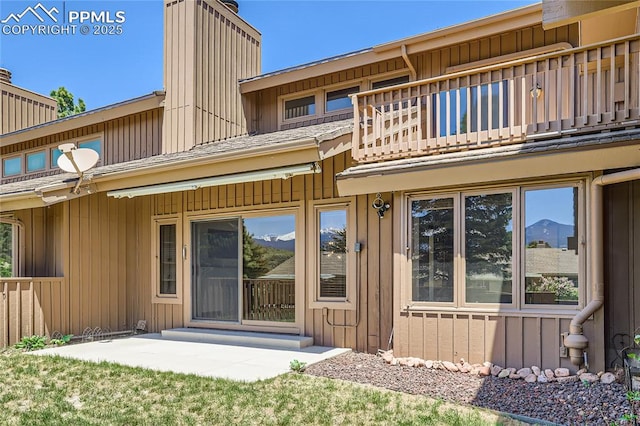
[[[295,321],[295,280],[243,280],[246,320]]]

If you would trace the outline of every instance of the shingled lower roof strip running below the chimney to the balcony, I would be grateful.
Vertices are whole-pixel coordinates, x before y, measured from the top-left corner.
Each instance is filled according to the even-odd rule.
[[[339,136],[351,133],[353,119],[333,121],[329,123],[317,124],[313,126],[299,127],[295,129],[283,130],[260,135],[247,135],[235,138],[208,142],[198,145],[189,151],[176,152],[171,154],[156,155],[139,160],[127,161],[124,163],[110,164],[96,167],[85,173],[88,179],[107,176],[113,173],[123,173],[128,171],[139,171],[145,168],[155,168],[162,165],[169,165],[180,162],[188,162],[194,159],[215,158],[219,155],[233,153],[251,152],[254,149],[278,148],[279,145],[287,142],[315,140],[316,143],[335,139]],[[12,182],[0,186],[0,195],[28,193],[39,187],[53,185],[65,180],[75,180],[77,176],[73,173],[56,174]]]

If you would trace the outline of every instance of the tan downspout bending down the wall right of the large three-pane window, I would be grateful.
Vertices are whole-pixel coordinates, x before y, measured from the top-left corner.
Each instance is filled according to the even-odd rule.
[[[591,301],[576,314],[569,325],[569,335],[564,345],[569,349],[569,357],[574,365],[580,366],[584,360],[584,350],[589,340],[583,334],[584,322],[600,309],[604,303],[604,225],[602,220],[602,187],[615,183],[640,179],[640,168],[598,176],[591,182]]]

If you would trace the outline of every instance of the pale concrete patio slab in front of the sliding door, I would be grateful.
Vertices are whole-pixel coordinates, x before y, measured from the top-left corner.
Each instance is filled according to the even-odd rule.
[[[175,341],[154,333],[47,348],[32,353],[252,382],[288,372],[289,363],[294,359],[310,365],[350,351],[323,346],[279,349]]]

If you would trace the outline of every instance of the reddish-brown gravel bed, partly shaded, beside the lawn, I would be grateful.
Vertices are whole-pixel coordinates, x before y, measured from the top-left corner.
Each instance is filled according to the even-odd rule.
[[[526,383],[493,376],[481,378],[446,370],[390,365],[379,356],[358,352],[313,364],[305,373],[560,425],[611,425],[631,413],[625,388],[619,383]]]

